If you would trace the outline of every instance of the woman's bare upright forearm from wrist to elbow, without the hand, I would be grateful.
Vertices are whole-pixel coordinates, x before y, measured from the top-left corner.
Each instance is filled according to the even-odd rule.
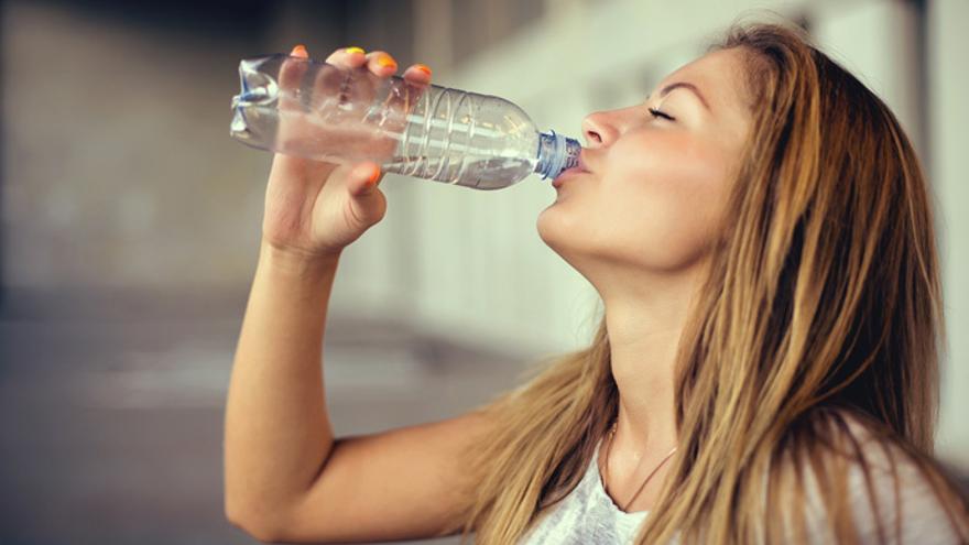
[[[333,446],[323,337],[337,261],[261,247],[226,402],[230,517],[271,517],[309,486]]]

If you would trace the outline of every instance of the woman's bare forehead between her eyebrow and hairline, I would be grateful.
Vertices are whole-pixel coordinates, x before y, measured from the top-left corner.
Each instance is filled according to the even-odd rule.
[[[716,115],[722,110],[740,110],[747,103],[743,77],[745,68],[739,50],[720,50],[687,63],[663,78],[657,89],[676,83],[696,85]],[[688,91],[685,91],[688,92]]]

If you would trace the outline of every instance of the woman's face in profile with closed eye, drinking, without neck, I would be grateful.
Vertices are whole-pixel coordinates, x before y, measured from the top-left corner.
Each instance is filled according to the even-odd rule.
[[[588,172],[559,179],[537,219],[542,240],[587,277],[601,264],[671,274],[697,263],[717,236],[750,126],[742,74],[739,51],[709,53],[642,103],[586,117]]]

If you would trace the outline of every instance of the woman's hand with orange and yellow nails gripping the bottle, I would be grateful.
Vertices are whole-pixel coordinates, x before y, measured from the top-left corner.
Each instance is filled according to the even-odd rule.
[[[297,45],[291,56],[307,58],[308,53]],[[389,54],[381,51],[364,54],[359,47],[337,50],[326,62],[349,68],[366,64],[381,78],[392,76],[398,68]],[[280,87],[298,88],[305,69],[305,62],[284,62],[280,68]],[[427,85],[431,69],[413,65],[403,77],[418,86]],[[298,107],[284,103],[287,100],[293,99],[281,99],[280,109]],[[264,243],[301,258],[338,257],[345,247],[383,219],[386,198],[377,187],[382,178],[380,165],[374,162],[336,164],[276,153],[265,192]]]

